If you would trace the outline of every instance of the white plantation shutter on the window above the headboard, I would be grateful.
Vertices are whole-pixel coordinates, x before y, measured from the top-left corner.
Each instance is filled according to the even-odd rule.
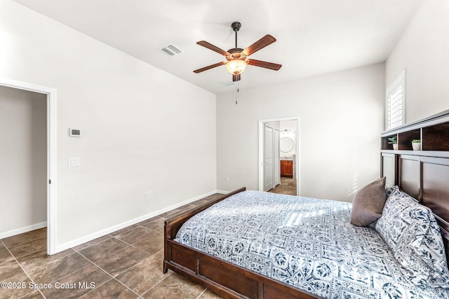
[[[404,124],[406,118],[406,71],[401,74],[387,88],[387,130]]]

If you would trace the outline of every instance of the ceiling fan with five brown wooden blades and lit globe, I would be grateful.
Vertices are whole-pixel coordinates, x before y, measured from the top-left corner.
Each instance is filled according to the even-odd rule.
[[[208,69],[213,69],[214,67],[220,67],[220,65],[226,64],[226,69],[229,73],[232,74],[232,81],[239,81],[240,74],[243,73],[246,69],[246,65],[253,65],[255,67],[264,67],[265,69],[272,69],[277,71],[281,69],[281,64],[276,64],[272,62],[264,62],[261,60],[253,60],[249,59],[248,56],[257,52],[258,50],[265,48],[271,43],[274,43],[276,39],[267,34],[262,37],[262,39],[256,41],[251,46],[243,50],[242,48],[237,48],[237,32],[239,31],[241,24],[240,22],[233,22],[231,25],[232,29],[236,33],[236,48],[229,49],[227,51],[218,48],[217,46],[213,46],[213,44],[208,43],[207,41],[199,41],[197,44],[208,48],[209,50],[213,50],[223,56],[226,57],[226,62],[218,62],[216,64],[211,64],[208,67],[203,67],[201,69],[196,69],[194,73],[198,74],[201,71],[207,71]]]

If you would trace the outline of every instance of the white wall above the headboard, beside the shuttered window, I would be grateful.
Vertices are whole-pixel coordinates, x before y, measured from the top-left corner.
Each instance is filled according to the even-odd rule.
[[[385,64],[386,85],[406,69],[406,123],[449,109],[449,1],[423,0]]]

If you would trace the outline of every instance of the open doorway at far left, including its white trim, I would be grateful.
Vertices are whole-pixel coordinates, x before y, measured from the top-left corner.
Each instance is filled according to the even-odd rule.
[[[8,129],[11,142],[2,146],[1,155],[11,160],[4,161],[10,167],[4,167],[1,174],[11,182],[8,190],[2,188],[8,196],[2,196],[6,201],[1,203],[0,213],[7,224],[1,225],[0,236],[4,239],[46,227],[48,254],[55,253],[56,233],[55,101],[53,88],[0,78],[2,112],[15,113],[13,117],[2,118],[2,121],[10,121],[2,127]],[[15,134],[22,136],[15,138]],[[26,186],[20,186],[21,181]]]

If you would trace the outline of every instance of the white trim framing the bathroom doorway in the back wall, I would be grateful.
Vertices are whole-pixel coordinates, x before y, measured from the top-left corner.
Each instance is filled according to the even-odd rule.
[[[290,118],[270,118],[259,120],[259,190],[264,190],[264,124],[274,121],[296,120],[296,148],[295,148],[295,167],[296,167],[296,194],[299,196],[301,190],[300,184],[300,117]]]

